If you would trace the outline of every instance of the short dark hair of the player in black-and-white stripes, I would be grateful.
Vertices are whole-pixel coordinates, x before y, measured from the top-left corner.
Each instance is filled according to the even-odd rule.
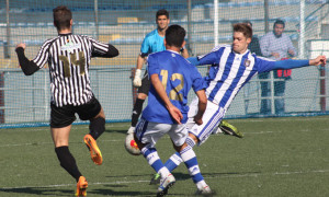
[[[69,28],[72,12],[65,5],[59,5],[53,10],[54,24],[57,31]]]

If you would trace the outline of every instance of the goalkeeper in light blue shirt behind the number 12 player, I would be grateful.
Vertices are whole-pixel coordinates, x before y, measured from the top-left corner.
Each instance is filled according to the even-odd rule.
[[[141,68],[145,62],[145,59],[149,54],[166,50],[163,39],[166,30],[168,28],[168,25],[170,23],[169,12],[164,9],[159,10],[156,14],[156,23],[158,27],[145,36],[140,47],[140,54],[137,57],[137,66],[133,83],[134,86],[138,88],[138,95],[133,108],[132,126],[128,129],[127,134],[134,132],[143,109],[143,104],[147,99],[149,91],[150,81],[148,78],[147,70],[145,71],[143,79],[140,78]],[[184,58],[189,57],[189,53],[184,48],[181,49],[181,54]]]

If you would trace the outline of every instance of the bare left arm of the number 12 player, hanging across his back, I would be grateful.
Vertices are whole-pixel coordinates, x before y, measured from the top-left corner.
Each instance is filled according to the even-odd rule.
[[[164,88],[162,86],[162,83],[159,79],[158,74],[151,74],[150,77],[151,83],[155,86],[157,93],[161,97],[161,100],[164,103],[166,108],[168,109],[171,117],[178,123],[181,124],[181,119],[183,118],[183,115],[179,108],[177,108],[172,103],[170,102]]]

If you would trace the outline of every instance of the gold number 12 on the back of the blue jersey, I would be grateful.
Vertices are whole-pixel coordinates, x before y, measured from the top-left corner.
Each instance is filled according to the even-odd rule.
[[[168,70],[161,70],[160,72],[160,76],[162,76],[162,85],[164,88],[164,91],[166,91],[166,88],[167,88],[167,82],[168,82]],[[174,80],[180,80],[181,83],[179,85],[177,85],[174,89],[172,89],[170,92],[169,92],[169,100],[177,100],[177,101],[180,101],[182,102],[183,101],[183,95],[181,93],[179,93],[183,86],[184,86],[184,78],[183,78],[183,74],[180,74],[180,73],[173,73],[170,78],[171,81],[174,81]]]

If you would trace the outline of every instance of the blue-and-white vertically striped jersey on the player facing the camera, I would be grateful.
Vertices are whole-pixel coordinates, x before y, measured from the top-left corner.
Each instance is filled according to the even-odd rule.
[[[240,89],[257,73],[273,70],[275,61],[257,57],[249,49],[237,54],[230,45],[219,45],[212,53],[197,57],[200,65],[212,65],[205,78],[208,101],[229,107]]]

